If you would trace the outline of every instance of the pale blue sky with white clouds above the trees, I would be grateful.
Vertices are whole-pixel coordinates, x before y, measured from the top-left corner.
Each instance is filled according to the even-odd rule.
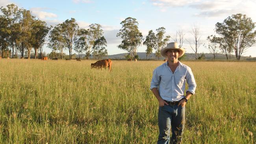
[[[149,30],[155,32],[157,28],[164,27],[166,35],[174,36],[176,31],[183,30],[185,39],[192,41],[191,27],[196,24],[205,44],[208,44],[206,37],[215,34],[215,24],[223,22],[228,16],[242,13],[256,22],[254,0],[0,0],[0,6],[11,3],[32,11],[48,26],[70,18],[75,18],[80,28],[88,28],[93,23],[101,24],[109,55],[126,52],[117,48],[121,39],[116,35],[121,28],[120,22],[127,17],[137,19],[144,38]],[[187,52],[193,52],[187,41],[183,47]],[[138,52],[145,50],[145,46],[140,46]],[[44,51],[48,53],[50,49],[45,46]],[[203,46],[198,51],[209,53]],[[256,45],[244,55],[256,57]]]

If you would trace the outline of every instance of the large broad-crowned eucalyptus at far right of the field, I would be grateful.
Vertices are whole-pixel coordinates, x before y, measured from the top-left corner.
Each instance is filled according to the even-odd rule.
[[[215,31],[233,48],[237,60],[240,60],[247,48],[256,43],[255,23],[241,13],[226,18],[222,23],[217,22]]]

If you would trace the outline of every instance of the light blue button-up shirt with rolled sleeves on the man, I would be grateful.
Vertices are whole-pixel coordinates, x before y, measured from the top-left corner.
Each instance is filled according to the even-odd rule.
[[[178,61],[179,64],[173,73],[167,63],[168,61],[154,70],[150,90],[158,88],[163,100],[175,102],[185,97],[185,82],[187,81],[188,89],[186,92],[195,94],[197,85],[191,68]]]

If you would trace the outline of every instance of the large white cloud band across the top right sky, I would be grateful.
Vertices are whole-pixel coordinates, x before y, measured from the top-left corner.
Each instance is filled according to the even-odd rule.
[[[151,0],[153,6],[160,7],[165,12],[166,7],[190,7],[198,10],[198,17],[223,17],[236,13],[246,14],[256,18],[254,0]]]

